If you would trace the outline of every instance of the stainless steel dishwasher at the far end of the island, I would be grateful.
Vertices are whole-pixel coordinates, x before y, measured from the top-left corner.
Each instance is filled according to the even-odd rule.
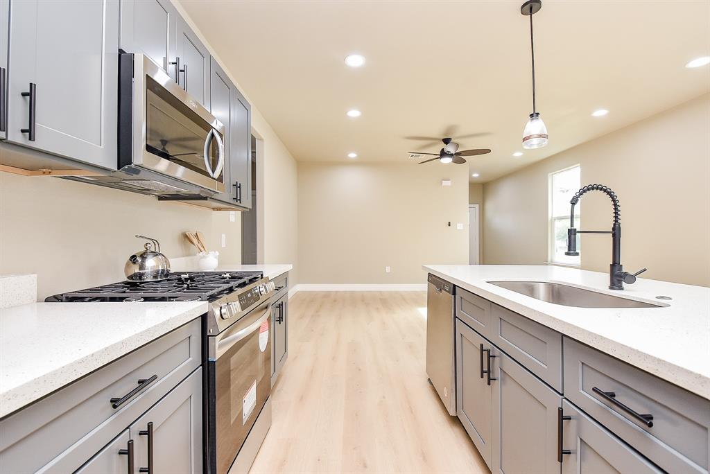
[[[427,276],[427,375],[450,415],[456,415],[454,285]]]

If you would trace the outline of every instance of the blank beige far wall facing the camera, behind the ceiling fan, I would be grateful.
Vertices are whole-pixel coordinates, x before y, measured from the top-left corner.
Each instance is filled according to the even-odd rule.
[[[467,194],[465,166],[299,162],[300,282],[425,283],[424,263],[467,263]]]

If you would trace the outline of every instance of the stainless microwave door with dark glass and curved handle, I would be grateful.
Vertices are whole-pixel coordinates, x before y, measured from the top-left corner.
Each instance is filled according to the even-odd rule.
[[[131,80],[132,164],[224,192],[224,125],[145,55]]]

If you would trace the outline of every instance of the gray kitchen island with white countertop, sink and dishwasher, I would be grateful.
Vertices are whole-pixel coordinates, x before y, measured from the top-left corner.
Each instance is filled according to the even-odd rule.
[[[432,383],[493,473],[709,472],[710,289],[612,291],[607,274],[547,265],[423,268],[427,333],[454,337],[437,353],[427,334],[427,373],[445,375],[450,354],[449,395]],[[530,282],[579,297],[537,299]]]

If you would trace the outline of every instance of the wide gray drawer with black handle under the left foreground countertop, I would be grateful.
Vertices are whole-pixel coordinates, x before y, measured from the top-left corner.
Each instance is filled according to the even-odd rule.
[[[200,366],[200,341],[197,319],[4,419],[2,470],[73,472]],[[111,398],[153,376],[145,389],[113,407]]]

